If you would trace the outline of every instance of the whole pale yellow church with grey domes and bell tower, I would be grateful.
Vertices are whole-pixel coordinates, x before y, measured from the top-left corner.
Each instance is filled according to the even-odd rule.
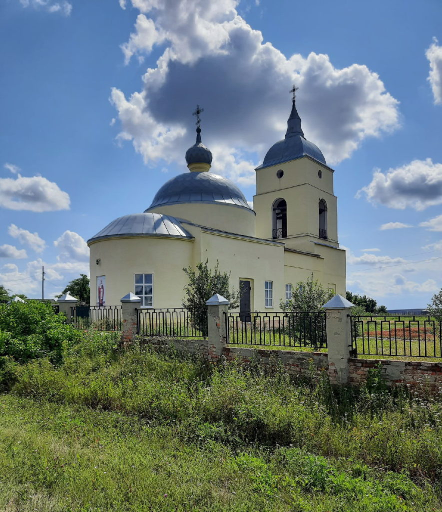
[[[87,241],[91,305],[118,305],[132,291],[141,307],[180,307],[183,268],[206,259],[241,287],[242,311],[279,310],[291,284],[312,274],[345,295],[334,170],[305,139],[295,99],[284,139],[256,168],[253,209],[235,184],[210,172],[199,112],[186,153],[190,172],[165,183],[143,213],[120,217]]]

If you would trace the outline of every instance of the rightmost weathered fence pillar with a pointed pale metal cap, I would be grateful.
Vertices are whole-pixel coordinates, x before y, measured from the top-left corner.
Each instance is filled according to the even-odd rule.
[[[322,307],[327,325],[328,377],[333,384],[348,383],[348,359],[351,355],[350,312],[354,304],[335,295]]]

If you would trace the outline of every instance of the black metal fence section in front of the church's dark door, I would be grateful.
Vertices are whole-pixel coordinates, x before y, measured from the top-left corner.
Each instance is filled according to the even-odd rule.
[[[227,343],[233,345],[327,347],[325,313],[254,311],[226,313]]]

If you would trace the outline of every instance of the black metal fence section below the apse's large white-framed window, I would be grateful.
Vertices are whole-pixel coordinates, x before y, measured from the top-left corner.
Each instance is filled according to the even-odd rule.
[[[187,308],[138,309],[138,334],[152,337],[207,337],[207,313]]]

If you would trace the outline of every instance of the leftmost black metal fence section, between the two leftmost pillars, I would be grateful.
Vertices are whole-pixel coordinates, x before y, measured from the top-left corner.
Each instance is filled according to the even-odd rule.
[[[121,330],[121,306],[74,306],[71,317],[77,329]]]

